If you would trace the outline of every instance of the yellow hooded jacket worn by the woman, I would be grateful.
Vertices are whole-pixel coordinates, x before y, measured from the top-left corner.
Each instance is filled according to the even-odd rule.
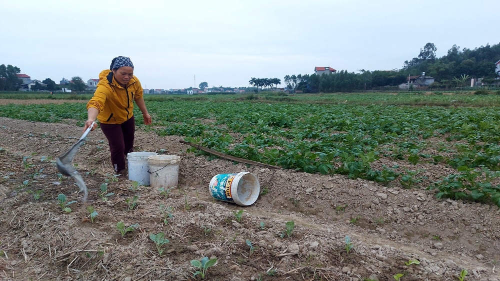
[[[142,97],[142,86],[135,75],[125,88],[114,79],[109,69],[99,73],[99,82],[93,97],[87,103],[99,110],[97,120],[104,124],[121,124],[133,116],[133,100]]]

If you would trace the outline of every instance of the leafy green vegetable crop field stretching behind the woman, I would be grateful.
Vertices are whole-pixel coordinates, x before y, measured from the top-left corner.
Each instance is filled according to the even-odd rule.
[[[412,188],[423,182],[418,171],[375,162],[444,166],[452,172],[425,186],[437,190],[437,198],[493,202],[500,207],[498,97],[146,96],[153,125],[142,125],[137,108],[135,116],[139,126],[160,136],[182,136],[232,156],[307,173],[341,174]],[[82,125],[86,111],[84,103],[68,100],[5,104],[0,106],[0,116],[51,123],[76,119]]]

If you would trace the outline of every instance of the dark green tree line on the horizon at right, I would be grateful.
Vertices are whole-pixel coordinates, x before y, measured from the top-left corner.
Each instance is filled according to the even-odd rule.
[[[436,58],[437,48],[427,43],[417,57],[404,61],[396,70],[358,70],[359,73],[340,70],[332,74],[286,75],[284,83],[288,89],[304,93],[349,92],[354,90],[390,89],[407,82],[408,76],[432,76],[430,88],[453,88],[464,86],[470,78],[483,78],[493,82],[500,73],[495,73],[494,63],[500,59],[500,43],[481,46],[473,50],[453,45],[446,55]]]

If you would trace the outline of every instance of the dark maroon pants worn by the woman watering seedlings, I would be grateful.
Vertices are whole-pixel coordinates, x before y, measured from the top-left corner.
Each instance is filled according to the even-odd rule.
[[[114,172],[125,169],[126,154],[133,151],[133,134],[135,132],[133,116],[121,124],[100,123],[100,128],[109,143]]]

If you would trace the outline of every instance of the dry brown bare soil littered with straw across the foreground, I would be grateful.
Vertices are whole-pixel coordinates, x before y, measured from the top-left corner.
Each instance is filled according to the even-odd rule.
[[[401,281],[438,281],[458,280],[462,270],[467,281],[500,280],[496,206],[436,200],[424,188],[208,161],[186,153],[182,137],[140,128],[134,151],[181,157],[178,186],[166,193],[113,177],[97,129],[72,162],[89,189],[82,203],[74,180],[59,177],[53,162],[81,135],[75,124],[0,118],[0,280],[201,280],[190,261],[203,257],[217,261],[205,280],[389,281],[403,274]],[[447,168],[414,169],[429,184]],[[259,179],[253,205],[212,199],[214,175],[241,171]],[[101,195],[106,182],[113,195]],[[69,213],[57,202],[61,193],[77,201]],[[88,206],[98,213],[93,222]],[[118,222],[137,226],[122,236]],[[160,232],[169,240],[162,255],[149,238]],[[405,265],[413,259],[419,264]]]

